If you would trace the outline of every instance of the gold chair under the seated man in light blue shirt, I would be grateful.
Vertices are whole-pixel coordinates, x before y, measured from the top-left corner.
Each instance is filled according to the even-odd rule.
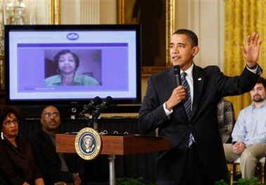
[[[241,172],[240,167],[239,167],[239,162],[240,158],[237,158],[233,163],[228,163],[227,168],[230,172],[230,184],[232,185],[234,182],[234,175],[236,172]],[[265,157],[260,158],[259,163],[257,164],[257,167],[259,169],[259,179],[262,184],[265,182],[265,172],[264,172],[264,167],[265,167]]]

